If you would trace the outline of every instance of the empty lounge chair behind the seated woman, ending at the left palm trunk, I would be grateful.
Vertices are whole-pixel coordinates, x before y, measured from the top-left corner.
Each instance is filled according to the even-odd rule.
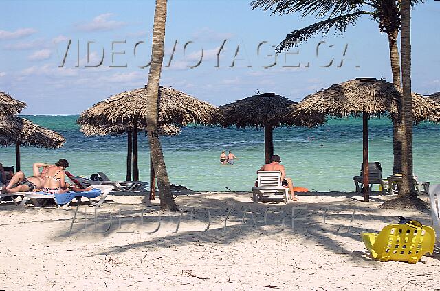
[[[136,191],[148,191],[147,186],[148,182],[142,182],[142,181],[110,181],[109,177],[105,175],[102,172],[98,172],[98,174],[101,176],[104,176],[104,178],[101,176],[102,181],[96,181],[91,180],[87,178],[82,178],[78,176],[72,175],[70,172],[65,171],[66,176],[75,183],[80,188],[86,188],[89,186],[95,186],[95,185],[111,185],[114,187],[114,191],[120,191],[120,192],[136,192]]]

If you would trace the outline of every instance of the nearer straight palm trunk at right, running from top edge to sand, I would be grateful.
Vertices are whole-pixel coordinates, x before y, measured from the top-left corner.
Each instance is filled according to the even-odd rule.
[[[412,178],[411,1],[401,0],[402,185],[399,196],[416,196]]]

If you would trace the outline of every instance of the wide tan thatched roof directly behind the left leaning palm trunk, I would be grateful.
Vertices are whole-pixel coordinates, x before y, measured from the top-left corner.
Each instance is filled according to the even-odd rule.
[[[100,126],[108,124],[127,124],[138,118],[146,125],[146,88],[126,91],[98,102],[81,113],[79,124]],[[220,113],[208,102],[197,100],[173,88],[159,87],[158,124],[214,124]]]

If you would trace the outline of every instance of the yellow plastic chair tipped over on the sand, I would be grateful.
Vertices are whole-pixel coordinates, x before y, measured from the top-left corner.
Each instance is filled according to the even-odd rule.
[[[390,224],[379,234],[362,233],[362,241],[378,261],[408,261],[417,263],[426,253],[434,251],[435,231],[407,224]]]

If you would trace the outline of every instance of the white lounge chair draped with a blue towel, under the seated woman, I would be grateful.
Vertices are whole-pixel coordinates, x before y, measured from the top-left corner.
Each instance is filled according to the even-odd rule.
[[[31,200],[35,206],[41,207],[47,204],[47,202],[54,202],[57,207],[67,207],[70,202],[76,198],[81,200],[85,197],[89,199],[89,202],[94,207],[99,207],[104,202],[110,191],[113,190],[113,186],[110,185],[98,185],[94,186],[91,191],[84,192],[67,192],[63,194],[45,194],[43,192],[26,192],[20,205],[25,205],[26,202]],[[92,198],[100,198],[98,202],[94,202]]]

